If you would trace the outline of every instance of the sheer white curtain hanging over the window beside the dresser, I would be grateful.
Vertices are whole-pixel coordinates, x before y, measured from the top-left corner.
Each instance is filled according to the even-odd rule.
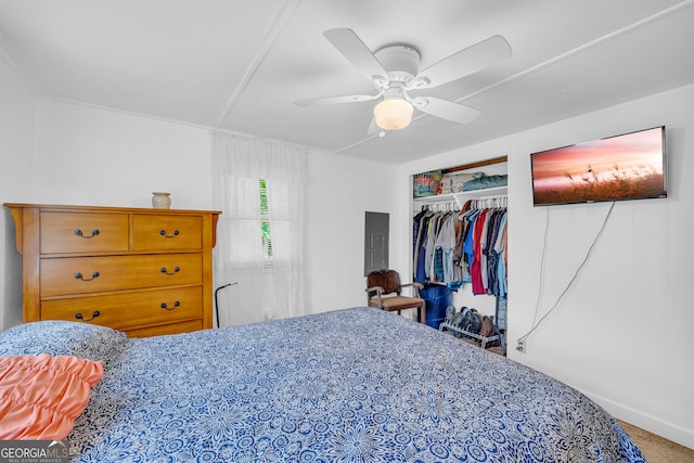
[[[306,151],[213,132],[219,323],[307,313],[304,305]]]

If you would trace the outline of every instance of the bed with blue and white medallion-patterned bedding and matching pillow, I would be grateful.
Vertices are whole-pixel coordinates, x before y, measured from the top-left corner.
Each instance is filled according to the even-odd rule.
[[[373,308],[150,338],[42,321],[0,355],[103,360],[73,462],[642,462],[577,390]]]

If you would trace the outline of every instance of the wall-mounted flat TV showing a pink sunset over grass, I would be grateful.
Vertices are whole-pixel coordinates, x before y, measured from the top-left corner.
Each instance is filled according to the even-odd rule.
[[[530,154],[535,206],[667,196],[665,126]]]

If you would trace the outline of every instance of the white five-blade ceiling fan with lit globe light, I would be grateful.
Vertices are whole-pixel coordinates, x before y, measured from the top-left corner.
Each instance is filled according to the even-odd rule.
[[[420,70],[420,53],[410,44],[393,44],[372,53],[354,30],[340,27],[323,36],[351,64],[373,80],[375,94],[312,98],[295,102],[298,106],[357,103],[383,98],[374,107],[369,133],[380,129],[407,127],[413,107],[459,124],[468,124],[480,115],[474,107],[435,97],[411,97],[410,90],[434,88],[489,67],[511,56],[511,47],[501,36],[492,36]]]

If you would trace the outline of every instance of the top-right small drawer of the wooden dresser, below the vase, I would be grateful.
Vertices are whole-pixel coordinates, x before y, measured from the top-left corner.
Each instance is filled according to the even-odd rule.
[[[202,249],[203,218],[197,216],[132,216],[133,250]]]

